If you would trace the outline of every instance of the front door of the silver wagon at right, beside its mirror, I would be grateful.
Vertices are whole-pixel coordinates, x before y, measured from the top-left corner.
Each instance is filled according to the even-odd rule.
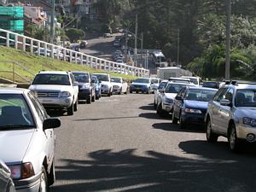
[[[227,99],[232,103],[234,96],[234,90],[232,88],[229,88],[226,93],[223,96],[223,99]],[[231,107],[230,106],[223,106],[219,105],[218,109],[218,130],[222,134],[227,133],[228,125],[231,118]]]

